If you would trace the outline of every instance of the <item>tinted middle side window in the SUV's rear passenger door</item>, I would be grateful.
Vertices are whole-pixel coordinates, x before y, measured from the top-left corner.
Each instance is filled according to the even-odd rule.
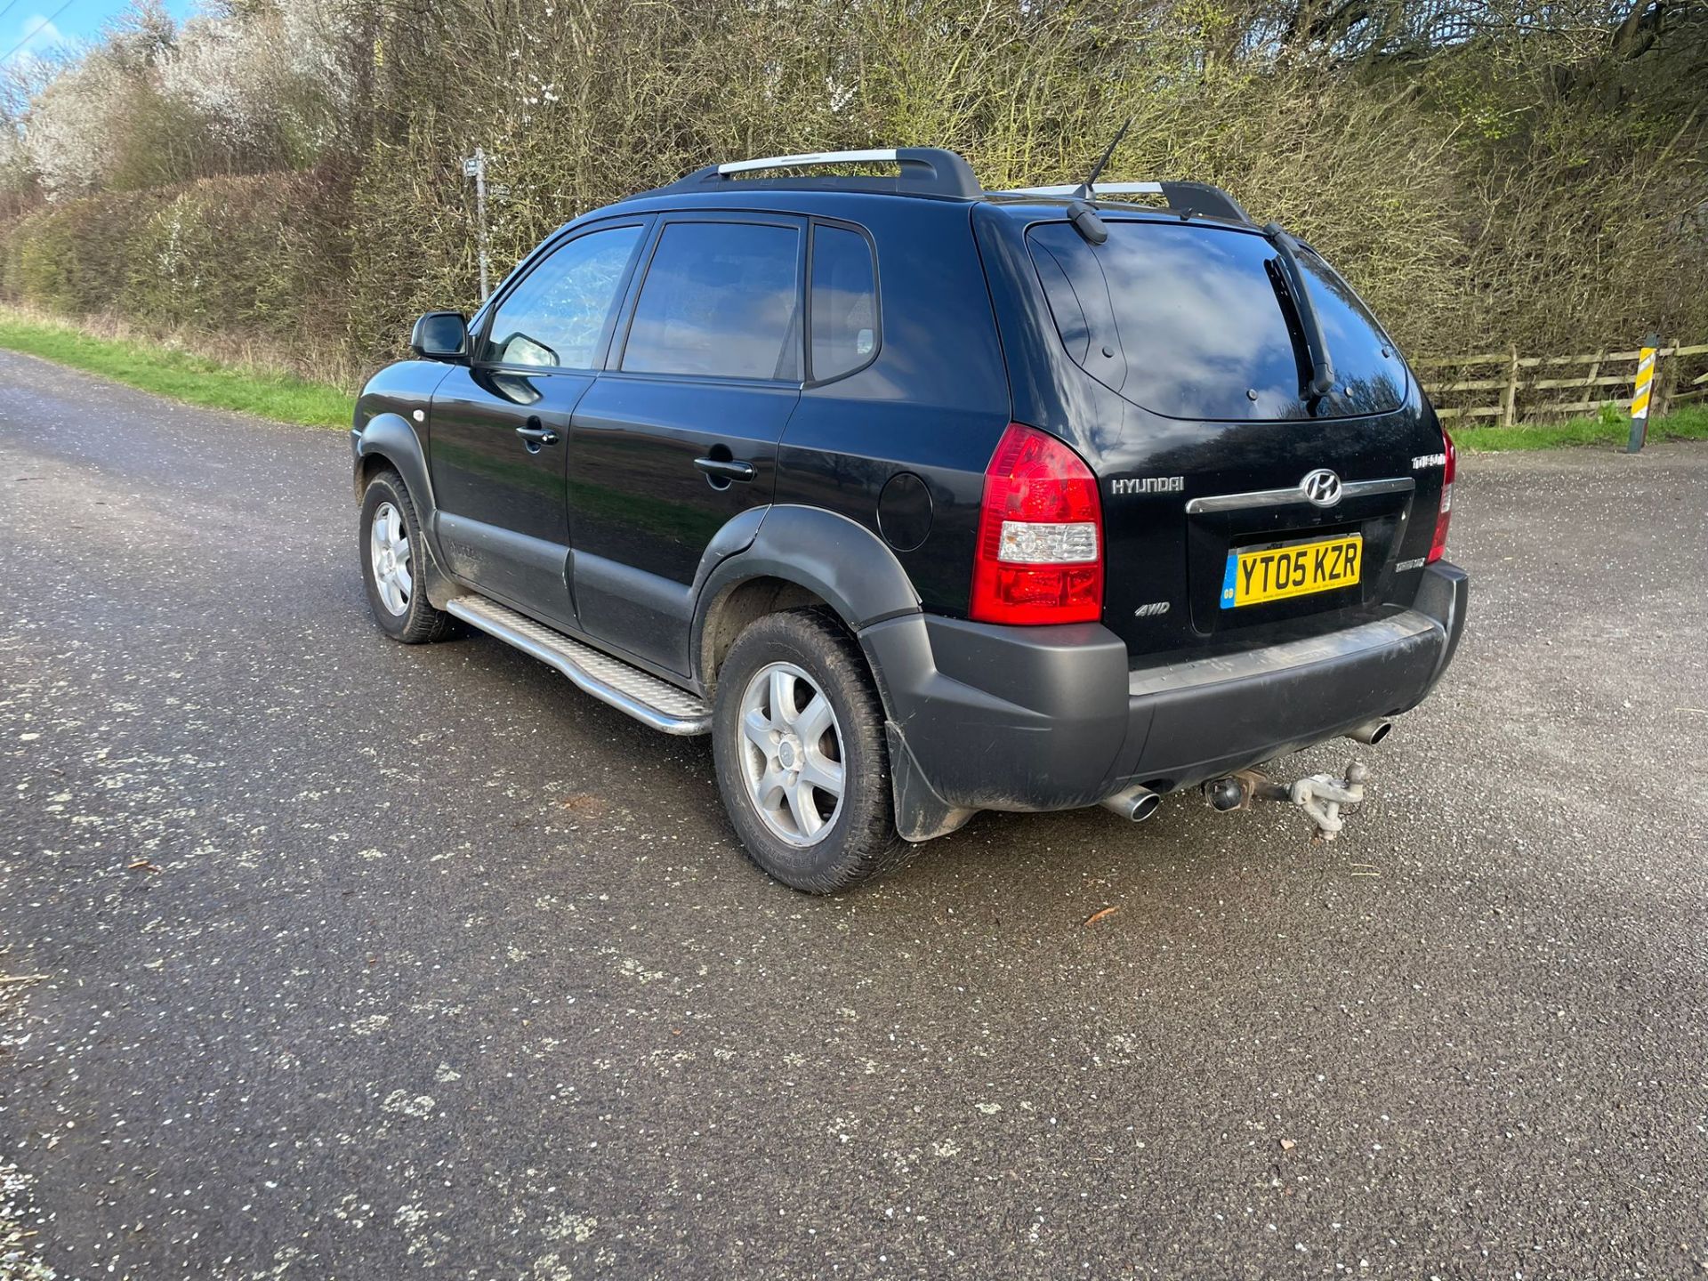
[[[635,302],[623,369],[711,377],[801,377],[794,227],[671,222]]]

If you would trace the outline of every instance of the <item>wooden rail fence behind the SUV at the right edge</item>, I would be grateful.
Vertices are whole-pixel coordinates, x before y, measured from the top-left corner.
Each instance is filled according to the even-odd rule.
[[[1631,384],[1636,379],[1636,362],[1641,352],[1590,352],[1588,355],[1518,355],[1517,350],[1491,355],[1459,355],[1442,360],[1414,360],[1423,377],[1424,391],[1435,401],[1442,418],[1494,418],[1503,427],[1527,418],[1558,418],[1594,413],[1602,405],[1631,407]],[[1677,338],[1670,347],[1657,350],[1655,403],[1652,417],[1660,417],[1670,407],[1698,396],[1708,396],[1708,374],[1688,381],[1689,391],[1679,391],[1681,374],[1689,366],[1703,364],[1708,343],[1681,347]],[[1477,371],[1494,367],[1500,377],[1479,376]],[[1583,374],[1568,374],[1573,367],[1587,367]],[[1431,379],[1424,371],[1443,371]],[[1575,400],[1565,400],[1573,391]],[[1488,393],[1498,393],[1488,403]],[[1445,403],[1443,403],[1445,401]]]

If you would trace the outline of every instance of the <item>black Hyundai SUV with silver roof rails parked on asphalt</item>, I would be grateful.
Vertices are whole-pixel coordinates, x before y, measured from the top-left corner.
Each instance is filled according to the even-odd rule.
[[[454,617],[711,733],[741,842],[801,890],[979,810],[1249,799],[1257,762],[1380,738],[1464,629],[1418,379],[1213,186],[709,166],[412,352],[352,432],[379,627]]]

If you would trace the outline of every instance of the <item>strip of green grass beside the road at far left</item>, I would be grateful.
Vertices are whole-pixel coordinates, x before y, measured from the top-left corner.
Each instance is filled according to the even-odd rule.
[[[0,309],[0,347],[39,355],[190,405],[309,427],[348,427],[355,398],[294,374],[220,364],[135,338],[97,338],[70,323]]]

